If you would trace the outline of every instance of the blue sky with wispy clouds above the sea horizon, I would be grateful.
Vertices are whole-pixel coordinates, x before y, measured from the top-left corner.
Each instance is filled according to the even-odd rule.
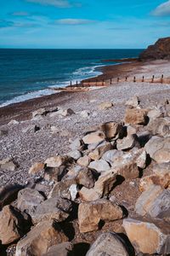
[[[0,0],[1,48],[145,48],[170,36],[170,0]]]

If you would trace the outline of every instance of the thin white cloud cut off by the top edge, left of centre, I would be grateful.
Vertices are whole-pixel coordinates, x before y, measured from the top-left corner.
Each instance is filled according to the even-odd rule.
[[[67,0],[26,0],[31,3],[40,3],[43,5],[52,5],[59,8],[69,8],[71,7],[71,3]]]

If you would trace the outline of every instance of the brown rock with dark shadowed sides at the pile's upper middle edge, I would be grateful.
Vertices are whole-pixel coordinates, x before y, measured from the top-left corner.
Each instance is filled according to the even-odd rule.
[[[101,125],[101,130],[104,131],[105,137],[108,139],[117,138],[122,135],[122,124],[117,122],[108,122]]]

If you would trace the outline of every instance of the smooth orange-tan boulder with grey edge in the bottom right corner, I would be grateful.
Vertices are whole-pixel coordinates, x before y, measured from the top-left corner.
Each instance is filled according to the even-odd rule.
[[[170,253],[170,236],[165,234],[156,224],[127,218],[123,220],[128,239],[138,253],[164,254]]]

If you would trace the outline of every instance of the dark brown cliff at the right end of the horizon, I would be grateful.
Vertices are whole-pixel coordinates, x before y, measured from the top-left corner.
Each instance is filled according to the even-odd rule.
[[[141,61],[159,59],[170,60],[170,37],[160,38],[139,55]]]

